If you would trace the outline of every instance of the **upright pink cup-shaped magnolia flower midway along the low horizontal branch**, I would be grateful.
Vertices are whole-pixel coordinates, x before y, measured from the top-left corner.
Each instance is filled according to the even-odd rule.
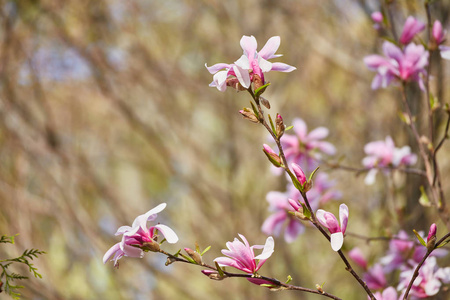
[[[233,242],[227,242],[227,249],[222,250],[222,254],[227,257],[218,257],[214,261],[220,266],[229,266],[245,273],[255,274],[266,260],[272,255],[275,242],[271,236],[266,240],[265,245],[249,245],[247,239],[239,234],[239,237],[244,241],[242,243],[237,238]],[[262,253],[255,256],[253,249],[263,249]]]

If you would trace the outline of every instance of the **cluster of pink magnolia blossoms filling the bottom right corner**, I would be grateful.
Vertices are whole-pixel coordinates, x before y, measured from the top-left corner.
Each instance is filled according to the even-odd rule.
[[[436,237],[436,225],[430,227],[427,243]],[[363,280],[371,290],[376,290],[375,297],[382,300],[403,299],[403,294],[411,281],[416,266],[420,263],[427,248],[417,244],[404,231],[400,231],[389,243],[387,254],[372,267],[359,248],[349,252],[350,258],[364,271]],[[443,284],[450,283],[450,267],[440,268],[436,257],[447,255],[447,250],[436,249],[419,269],[419,276],[414,280],[410,292],[411,299],[423,299],[436,295]],[[397,273],[396,271],[400,271]],[[388,286],[387,278],[398,275],[396,287]],[[401,295],[399,297],[399,294]]]

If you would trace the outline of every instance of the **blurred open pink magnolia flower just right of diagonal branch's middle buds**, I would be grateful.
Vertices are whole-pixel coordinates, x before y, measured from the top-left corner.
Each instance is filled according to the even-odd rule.
[[[289,163],[296,163],[307,171],[317,167],[321,154],[333,155],[336,148],[329,142],[322,141],[328,136],[328,129],[318,127],[308,133],[305,121],[300,118],[292,122],[295,135],[285,133],[281,137],[281,145]]]

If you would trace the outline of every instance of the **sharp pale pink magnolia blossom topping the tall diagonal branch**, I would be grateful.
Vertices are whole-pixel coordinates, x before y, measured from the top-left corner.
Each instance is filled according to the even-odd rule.
[[[234,64],[218,63],[206,68],[211,74],[214,74],[213,81],[209,86],[217,87],[224,92],[227,85],[239,83],[243,88],[250,87],[250,83],[255,80],[257,75],[264,83],[264,74],[269,71],[292,72],[296,68],[284,63],[271,63],[268,60],[282,56],[275,54],[280,47],[280,37],[271,37],[261,51],[257,52],[257,42],[254,36],[243,36],[240,41],[244,54],[234,62]],[[222,70],[222,71],[221,71]],[[227,81],[228,77],[233,76],[236,80]]]

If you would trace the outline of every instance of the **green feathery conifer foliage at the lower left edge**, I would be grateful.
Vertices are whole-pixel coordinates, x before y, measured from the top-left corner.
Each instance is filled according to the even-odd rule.
[[[16,235],[17,236],[17,235]],[[3,235],[0,239],[0,243],[14,244],[15,236],[5,236]],[[24,264],[28,267],[30,273],[33,273],[34,277],[42,278],[42,275],[37,272],[37,268],[33,266],[30,262],[34,258],[38,258],[39,255],[45,254],[44,251],[38,249],[25,250],[21,256],[16,258],[7,258],[0,260],[0,268],[2,270],[0,274],[0,280],[3,283],[1,287],[4,287],[5,292],[10,295],[13,299],[20,299],[20,293],[17,292],[18,289],[24,288],[22,285],[16,285],[13,283],[14,280],[25,280],[28,279],[27,276],[14,273],[9,271],[9,267],[13,263]],[[0,289],[1,292],[1,289]]]

